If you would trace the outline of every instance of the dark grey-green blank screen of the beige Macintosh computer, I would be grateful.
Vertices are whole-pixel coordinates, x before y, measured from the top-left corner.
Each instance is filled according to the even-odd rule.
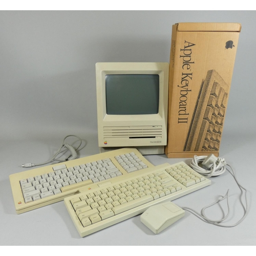
[[[158,114],[159,75],[106,75],[106,114]]]

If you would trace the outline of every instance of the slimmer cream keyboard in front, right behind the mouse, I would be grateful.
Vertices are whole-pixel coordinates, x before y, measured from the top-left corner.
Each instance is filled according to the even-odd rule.
[[[81,237],[210,185],[184,162],[162,164],[79,189],[64,199]]]

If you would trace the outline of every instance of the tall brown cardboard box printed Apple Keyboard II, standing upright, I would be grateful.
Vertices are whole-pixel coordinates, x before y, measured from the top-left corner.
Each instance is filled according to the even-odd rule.
[[[173,25],[169,64],[168,158],[219,155],[241,25]]]

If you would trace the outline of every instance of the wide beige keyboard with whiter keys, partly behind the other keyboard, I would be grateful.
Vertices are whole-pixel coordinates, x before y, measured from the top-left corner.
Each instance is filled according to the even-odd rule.
[[[83,157],[10,175],[17,214],[59,202],[82,186],[154,166],[136,148]]]

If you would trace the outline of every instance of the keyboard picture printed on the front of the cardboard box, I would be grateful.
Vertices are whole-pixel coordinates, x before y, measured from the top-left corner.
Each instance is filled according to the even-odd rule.
[[[227,106],[228,85],[215,70],[202,82],[184,151],[218,151]]]

